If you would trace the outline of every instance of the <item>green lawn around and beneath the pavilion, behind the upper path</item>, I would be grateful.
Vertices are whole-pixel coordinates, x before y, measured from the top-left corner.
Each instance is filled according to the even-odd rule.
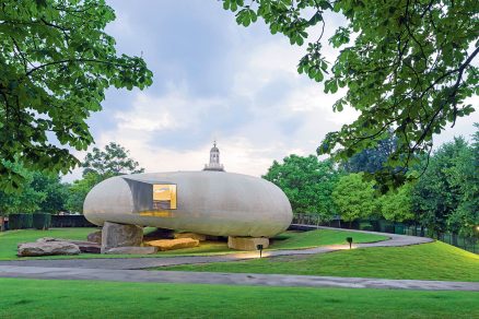
[[[86,235],[96,228],[55,228],[48,231],[10,231],[0,233],[0,260],[17,259],[16,246],[19,243],[35,241],[40,237],[56,237],[68,239],[86,240]],[[145,228],[151,232],[151,227]],[[343,231],[320,229],[311,232],[284,232],[271,240],[270,249],[304,249],[325,245],[346,245],[346,237],[352,236],[354,243],[370,243],[385,240],[388,237],[382,235],[352,233]],[[133,257],[171,257],[185,255],[222,255],[234,253],[237,250],[227,248],[224,241],[202,241],[199,247],[186,248],[171,251],[162,251],[156,255],[95,255],[81,253],[79,256],[47,256],[37,259],[68,259],[68,258],[133,258]],[[25,259],[25,258],[23,258]],[[31,258],[30,258],[31,259]]]

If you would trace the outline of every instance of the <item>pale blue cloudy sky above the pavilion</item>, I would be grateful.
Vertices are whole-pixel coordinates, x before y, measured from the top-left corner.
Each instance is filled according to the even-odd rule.
[[[109,90],[89,125],[96,146],[118,142],[147,172],[201,169],[217,140],[227,172],[260,176],[273,160],[315,153],[328,131],[354,119],[353,110],[332,113],[338,96],[297,74],[304,48],[262,23],[238,26],[219,1],[107,2],[117,15],[107,32],[118,52],[142,55],[154,83]],[[329,16],[324,38],[341,23]],[[331,62],[334,55],[326,50]],[[469,135],[475,121],[479,113],[435,141]]]

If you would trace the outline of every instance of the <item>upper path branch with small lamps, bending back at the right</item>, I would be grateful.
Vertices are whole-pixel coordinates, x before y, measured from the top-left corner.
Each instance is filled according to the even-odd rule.
[[[318,227],[328,228],[328,227]],[[338,229],[348,231],[350,229]],[[358,233],[373,233],[354,231]],[[414,237],[395,234],[373,233],[377,235],[389,236],[390,239],[367,243],[367,244],[354,244],[353,248],[369,248],[369,247],[397,247],[409,246],[433,241],[425,237]],[[314,255],[324,253],[337,250],[349,249],[349,245],[330,245],[311,249],[294,249],[294,250],[269,250],[264,251],[264,257],[279,257],[279,256],[293,256],[293,255]],[[0,261],[0,265],[20,265],[20,267],[46,267],[46,268],[84,268],[84,269],[145,269],[163,265],[177,265],[177,264],[191,264],[191,263],[209,263],[209,262],[226,262],[246,260],[252,258],[258,258],[258,252],[240,252],[230,255],[217,255],[217,256],[179,256],[179,257],[144,257],[144,258],[98,258],[98,259],[42,259],[42,260],[11,260]],[[0,274],[1,275],[1,274]]]

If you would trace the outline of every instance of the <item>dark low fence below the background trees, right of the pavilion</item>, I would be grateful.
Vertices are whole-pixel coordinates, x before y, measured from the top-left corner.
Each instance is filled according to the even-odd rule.
[[[419,237],[431,237],[443,243],[456,246],[464,250],[468,250],[474,253],[479,253],[479,238],[478,237],[462,237],[457,234],[441,234],[441,236],[435,236],[429,232],[425,227],[407,225],[402,223],[394,223],[385,220],[358,220],[353,222],[344,222],[339,216],[332,221],[323,222],[319,220],[318,215],[314,214],[297,214],[293,216],[292,224],[301,225],[315,225],[315,226],[328,226],[337,228],[347,229],[360,229],[360,231],[373,231],[379,233],[398,234],[398,235],[410,235]]]

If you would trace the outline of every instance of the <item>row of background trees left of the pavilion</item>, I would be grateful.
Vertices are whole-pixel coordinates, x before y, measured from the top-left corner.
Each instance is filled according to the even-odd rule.
[[[0,226],[3,228],[3,217],[12,213],[82,213],[83,201],[96,184],[144,170],[128,153],[117,143],[109,143],[105,150],[94,147],[82,163],[82,178],[72,184],[62,182],[60,176],[51,173],[27,170],[21,162],[3,162],[22,176],[22,186],[21,191],[0,191]]]

